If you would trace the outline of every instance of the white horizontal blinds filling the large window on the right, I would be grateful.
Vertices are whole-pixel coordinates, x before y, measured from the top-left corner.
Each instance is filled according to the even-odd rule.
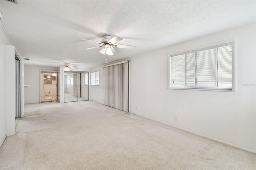
[[[232,90],[232,43],[170,56],[170,88]]]

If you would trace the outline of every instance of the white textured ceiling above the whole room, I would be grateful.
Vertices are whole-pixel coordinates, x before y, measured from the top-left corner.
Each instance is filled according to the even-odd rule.
[[[0,1],[2,24],[26,64],[69,62],[90,68],[105,63],[98,45],[104,34],[119,36],[108,61],[131,57],[221,30],[255,22],[255,1]]]

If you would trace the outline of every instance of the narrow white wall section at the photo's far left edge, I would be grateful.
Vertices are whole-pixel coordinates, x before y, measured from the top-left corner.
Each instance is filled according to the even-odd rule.
[[[0,23],[1,24],[1,23]],[[8,69],[15,68],[14,46],[8,40],[2,24],[0,26],[0,147],[6,136],[15,134],[15,79],[13,72]],[[11,54],[8,49],[11,49]],[[6,53],[7,51],[7,53]],[[13,58],[8,55],[13,55]],[[7,58],[10,57],[10,58]],[[12,62],[13,61],[13,62]],[[15,69],[14,69],[15,70]],[[6,82],[13,81],[13,84],[8,86]],[[9,93],[7,90],[14,89]],[[14,96],[13,96],[14,92]],[[14,106],[13,106],[14,105]],[[11,106],[12,108],[7,108]],[[13,109],[14,108],[14,109]],[[13,113],[14,111],[14,113]]]

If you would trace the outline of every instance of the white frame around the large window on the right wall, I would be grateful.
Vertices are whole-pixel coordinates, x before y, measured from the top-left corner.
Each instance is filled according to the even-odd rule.
[[[188,88],[188,87],[171,87],[171,57],[177,55],[183,55],[186,53],[193,53],[196,51],[203,51],[207,49],[212,49],[216,47],[221,47],[227,43],[232,43],[232,90],[222,90],[222,89],[203,89],[203,88]],[[226,40],[222,42],[212,43],[208,45],[204,45],[201,47],[195,47],[194,49],[190,49],[188,51],[181,51],[173,54],[168,54],[168,89],[178,89],[178,90],[202,90],[202,91],[229,91],[236,92],[236,39]]]

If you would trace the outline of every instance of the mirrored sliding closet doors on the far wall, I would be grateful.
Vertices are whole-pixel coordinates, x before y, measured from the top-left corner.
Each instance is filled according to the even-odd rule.
[[[89,100],[89,72],[64,71],[64,102]]]

